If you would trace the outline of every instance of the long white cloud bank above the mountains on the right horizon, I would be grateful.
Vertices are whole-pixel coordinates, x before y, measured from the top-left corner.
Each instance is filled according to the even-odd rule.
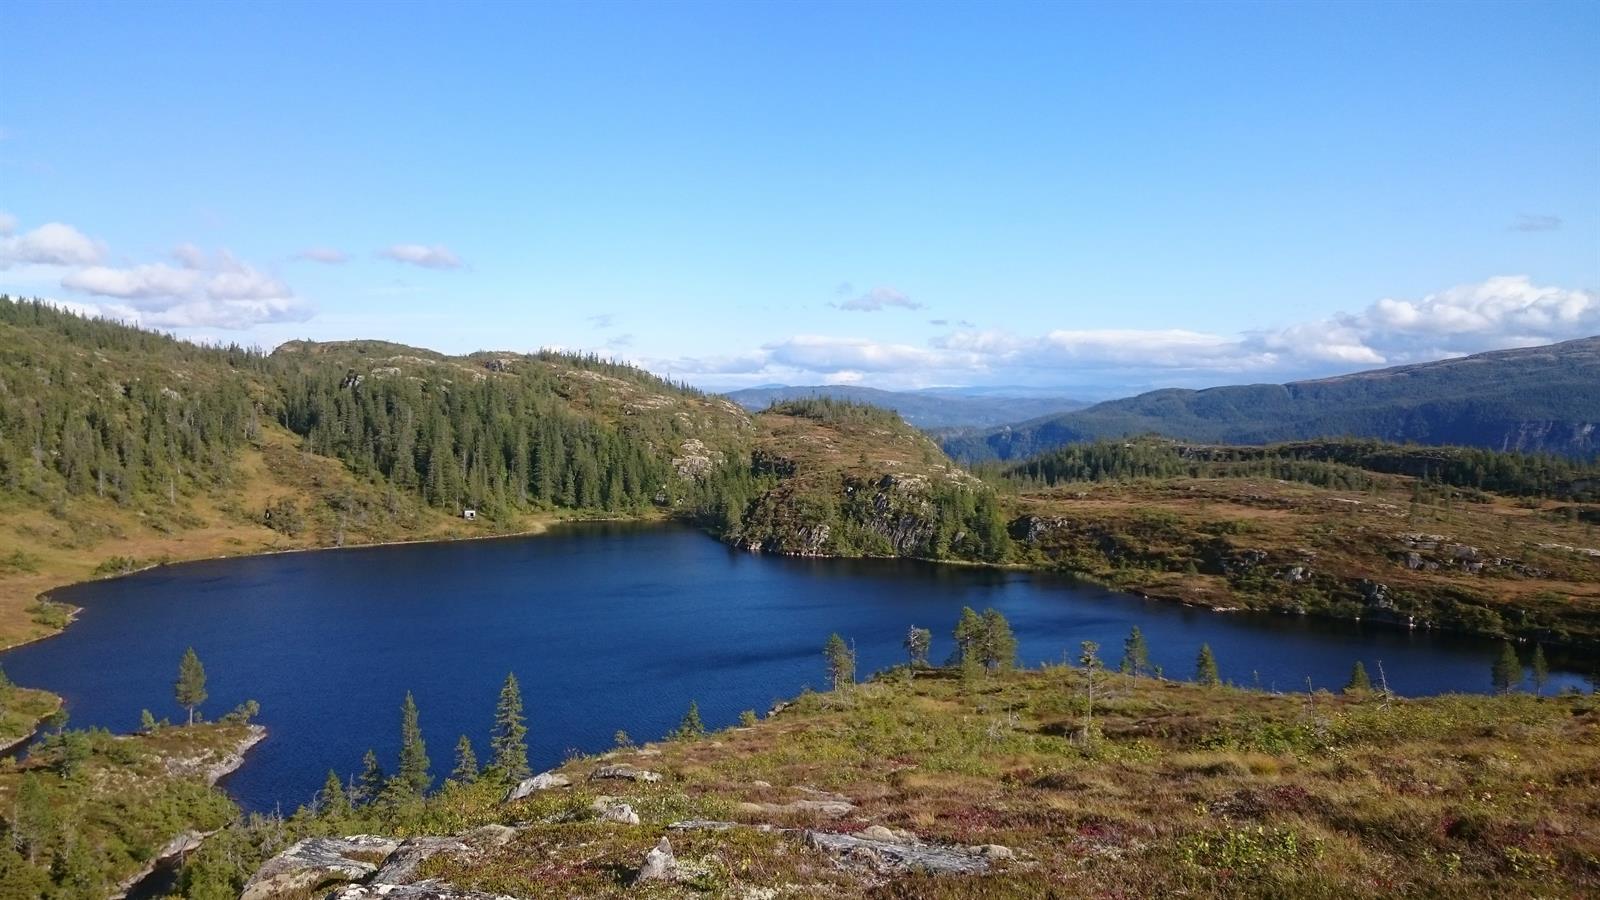
[[[1600,333],[1600,296],[1502,275],[1414,299],[1382,298],[1360,312],[1238,335],[1186,328],[1058,328],[1014,335],[960,325],[926,346],[798,335],[752,354],[678,359],[672,370],[746,383],[870,376],[875,384],[901,386],[1085,378],[1144,383],[1152,372],[1168,383],[1214,384],[1246,376],[1286,381]]]

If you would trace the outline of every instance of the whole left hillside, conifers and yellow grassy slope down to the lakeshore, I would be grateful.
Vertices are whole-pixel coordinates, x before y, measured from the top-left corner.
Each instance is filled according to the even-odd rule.
[[[474,511],[469,522],[466,511]],[[0,637],[163,559],[670,516],[752,549],[1000,559],[994,493],[893,413],[736,404],[592,356],[198,346],[0,298]]]

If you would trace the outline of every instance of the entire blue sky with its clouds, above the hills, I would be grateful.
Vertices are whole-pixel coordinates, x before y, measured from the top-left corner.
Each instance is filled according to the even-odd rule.
[[[1600,331],[1595,3],[8,3],[0,290],[709,386]]]

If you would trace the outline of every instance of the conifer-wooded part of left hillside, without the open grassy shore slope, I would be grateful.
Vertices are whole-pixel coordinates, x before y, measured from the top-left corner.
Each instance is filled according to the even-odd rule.
[[[893,464],[949,461],[877,407],[803,399],[752,418],[594,356],[448,357],[386,341],[262,354],[10,298],[0,328],[0,490],[35,506],[93,496],[186,527],[186,498],[235,485],[240,452],[275,428],[389,498],[381,511],[339,492],[243,511],[291,535],[318,503],[338,506],[325,516],[341,522],[336,541],[349,509],[474,509],[490,524],[659,511],[779,552],[1005,556],[994,493],[976,479],[888,479],[882,456],[896,444],[917,452]],[[755,450],[795,420],[822,429],[808,440],[851,453],[808,458],[795,477],[797,448]]]

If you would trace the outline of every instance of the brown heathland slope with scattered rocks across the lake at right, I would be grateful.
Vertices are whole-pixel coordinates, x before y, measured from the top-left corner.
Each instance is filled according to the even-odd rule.
[[[1502,496],[1413,506],[1413,479],[1374,480],[1381,487],[1370,492],[1266,477],[1069,484],[1024,492],[1014,508],[1042,524],[1021,544],[1024,560],[1155,597],[1341,618],[1416,615],[1418,625],[1600,647],[1600,557],[1581,552],[1600,548],[1600,536],[1571,517],[1600,506]],[[1482,570],[1469,572],[1453,544],[1475,548]],[[1250,551],[1264,556],[1250,562]],[[1386,586],[1392,609],[1363,583]]]

